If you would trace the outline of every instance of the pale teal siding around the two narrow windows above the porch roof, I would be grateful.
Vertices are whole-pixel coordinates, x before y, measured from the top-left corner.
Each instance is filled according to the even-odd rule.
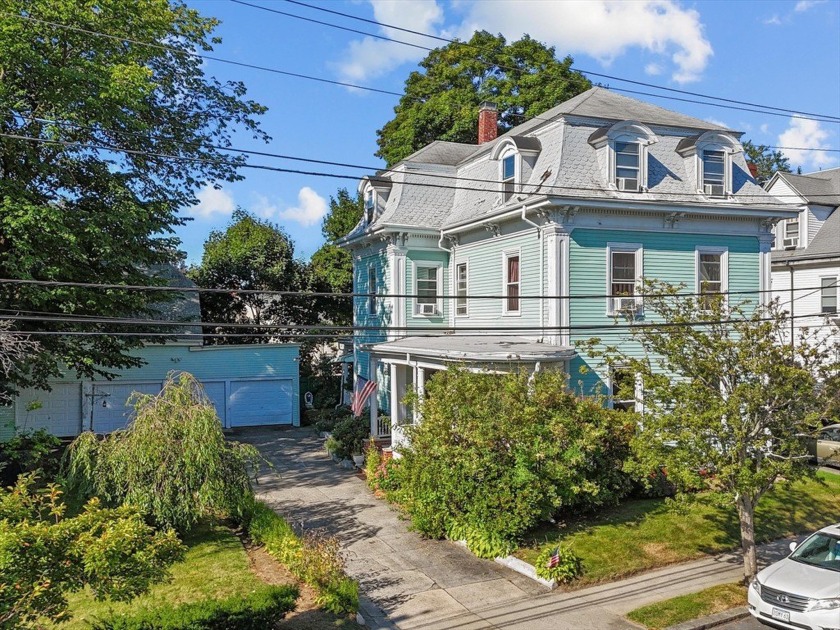
[[[519,254],[520,295],[541,295],[540,257],[542,241],[533,231],[520,232],[512,237],[493,238],[479,244],[456,249],[452,268],[467,263],[467,294],[497,296],[467,301],[467,316],[455,318],[456,326],[486,326],[489,331],[496,327],[534,327],[540,325],[540,303],[543,300],[523,299],[519,301],[518,314],[505,314],[505,258],[508,253]],[[546,279],[543,278],[545,284]]]

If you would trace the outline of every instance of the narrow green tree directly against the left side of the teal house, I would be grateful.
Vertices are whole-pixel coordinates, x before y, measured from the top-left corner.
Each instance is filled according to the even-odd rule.
[[[321,223],[321,233],[326,243],[312,254],[310,267],[312,279],[320,291],[350,293],[353,290],[353,258],[335,241],[350,233],[362,218],[363,201],[353,197],[346,188],[340,188],[330,197],[330,209]],[[353,321],[353,302],[347,297],[329,300],[325,304],[327,319],[335,324],[347,325]]]

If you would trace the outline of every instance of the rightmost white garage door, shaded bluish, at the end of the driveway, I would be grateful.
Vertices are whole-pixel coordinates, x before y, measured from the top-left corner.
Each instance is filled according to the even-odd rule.
[[[293,391],[291,379],[231,381],[229,426],[292,424]]]

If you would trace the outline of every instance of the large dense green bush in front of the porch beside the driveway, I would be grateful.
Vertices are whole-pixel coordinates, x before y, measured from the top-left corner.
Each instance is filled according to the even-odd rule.
[[[560,372],[450,369],[427,382],[421,412],[388,494],[427,536],[495,553],[558,510],[612,504],[629,489],[621,468],[635,416],[575,398]]]

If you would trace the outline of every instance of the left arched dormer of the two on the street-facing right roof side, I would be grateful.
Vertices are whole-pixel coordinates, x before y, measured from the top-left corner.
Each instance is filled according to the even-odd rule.
[[[633,120],[602,127],[589,136],[589,144],[606,152],[601,163],[607,185],[622,192],[647,190],[648,147],[658,141],[647,125]]]

